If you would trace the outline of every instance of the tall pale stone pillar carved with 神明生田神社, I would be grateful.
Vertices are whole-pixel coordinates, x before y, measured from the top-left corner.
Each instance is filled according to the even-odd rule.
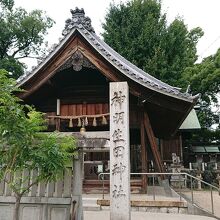
[[[110,83],[110,219],[130,220],[129,91]]]

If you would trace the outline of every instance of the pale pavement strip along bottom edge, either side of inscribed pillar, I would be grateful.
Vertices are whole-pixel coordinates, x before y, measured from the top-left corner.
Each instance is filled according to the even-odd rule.
[[[109,220],[109,211],[84,211],[84,220]],[[150,212],[132,212],[131,220],[216,220],[215,218],[199,215],[182,215]]]

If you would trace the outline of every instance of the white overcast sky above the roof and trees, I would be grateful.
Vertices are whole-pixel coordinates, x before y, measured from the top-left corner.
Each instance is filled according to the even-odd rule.
[[[125,0],[121,0],[126,2]],[[101,23],[112,0],[15,0],[16,6],[22,6],[27,11],[41,9],[47,12],[56,22],[50,29],[47,40],[49,45],[57,43],[64,27],[65,20],[71,17],[70,9],[84,8],[86,16],[92,20],[92,25],[99,35],[102,32]],[[114,0],[119,3],[120,0]],[[203,57],[214,54],[220,48],[220,0],[162,0],[162,9],[167,13],[168,21],[176,16],[184,18],[189,29],[201,27],[205,32],[198,43],[198,55]]]

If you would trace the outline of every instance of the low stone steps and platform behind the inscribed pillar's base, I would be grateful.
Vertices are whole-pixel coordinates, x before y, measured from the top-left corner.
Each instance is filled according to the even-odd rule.
[[[155,196],[154,193],[155,192]],[[154,200],[155,198],[155,200]],[[83,209],[85,211],[109,210],[109,194],[84,194]],[[187,213],[187,202],[180,199],[173,190],[164,187],[148,187],[147,194],[131,194],[131,210],[161,213]]]

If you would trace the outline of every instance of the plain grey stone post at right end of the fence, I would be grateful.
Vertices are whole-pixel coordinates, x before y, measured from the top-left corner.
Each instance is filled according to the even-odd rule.
[[[83,174],[83,152],[79,151],[78,158],[73,161],[73,201],[76,201],[76,219],[83,220],[82,205],[82,174]]]

